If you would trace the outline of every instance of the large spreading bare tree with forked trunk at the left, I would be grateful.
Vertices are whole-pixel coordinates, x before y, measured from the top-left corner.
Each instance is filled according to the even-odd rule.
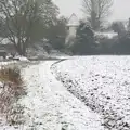
[[[25,55],[31,38],[53,23],[57,9],[51,0],[0,0],[0,13],[8,30],[5,37]]]

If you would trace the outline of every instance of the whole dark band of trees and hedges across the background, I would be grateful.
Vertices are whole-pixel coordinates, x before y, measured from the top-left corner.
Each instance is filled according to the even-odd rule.
[[[110,5],[110,2],[104,5],[107,4]],[[87,23],[81,22],[76,38],[72,39],[73,44],[65,43],[67,18],[58,17],[58,8],[52,0],[2,0],[0,13],[0,37],[8,39],[20,55],[26,55],[28,48],[39,41],[41,47],[46,47],[47,50],[53,48],[68,54],[130,54],[129,31],[122,24],[113,23],[112,29],[117,36],[110,39],[96,36],[95,31],[102,27],[102,23],[98,24],[100,17],[94,21],[93,13],[90,13],[89,25],[98,24],[99,27],[95,29],[92,26],[92,30]]]

